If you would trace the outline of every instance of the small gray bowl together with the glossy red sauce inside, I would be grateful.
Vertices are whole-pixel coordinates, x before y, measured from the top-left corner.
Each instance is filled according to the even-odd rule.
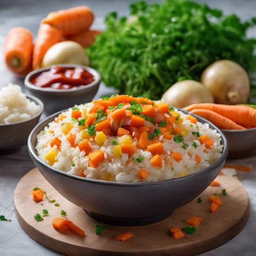
[[[30,72],[25,78],[29,94],[44,102],[52,114],[90,102],[96,95],[101,76],[95,69],[77,64],[58,64]]]

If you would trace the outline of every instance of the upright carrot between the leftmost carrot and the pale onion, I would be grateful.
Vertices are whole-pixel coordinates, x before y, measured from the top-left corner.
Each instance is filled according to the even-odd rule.
[[[63,40],[60,30],[48,24],[41,24],[38,30],[38,36],[33,50],[33,70],[40,68],[44,54],[54,44]]]

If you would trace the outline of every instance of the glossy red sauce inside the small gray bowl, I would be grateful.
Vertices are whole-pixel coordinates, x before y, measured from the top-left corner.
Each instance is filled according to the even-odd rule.
[[[50,70],[29,79],[35,86],[53,89],[78,88],[90,84],[94,80],[94,76],[82,67],[52,67]]]

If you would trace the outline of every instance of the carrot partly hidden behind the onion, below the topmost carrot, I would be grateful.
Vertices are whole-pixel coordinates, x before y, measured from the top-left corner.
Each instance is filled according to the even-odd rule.
[[[67,36],[65,40],[75,41],[81,44],[82,47],[91,46],[95,41],[95,36],[101,32],[98,30],[85,30],[79,34]]]

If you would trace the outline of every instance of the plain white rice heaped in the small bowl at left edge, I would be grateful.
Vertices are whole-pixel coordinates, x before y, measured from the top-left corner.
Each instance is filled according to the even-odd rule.
[[[40,110],[26,95],[21,87],[10,83],[0,90],[0,124],[20,122],[35,116]]]

